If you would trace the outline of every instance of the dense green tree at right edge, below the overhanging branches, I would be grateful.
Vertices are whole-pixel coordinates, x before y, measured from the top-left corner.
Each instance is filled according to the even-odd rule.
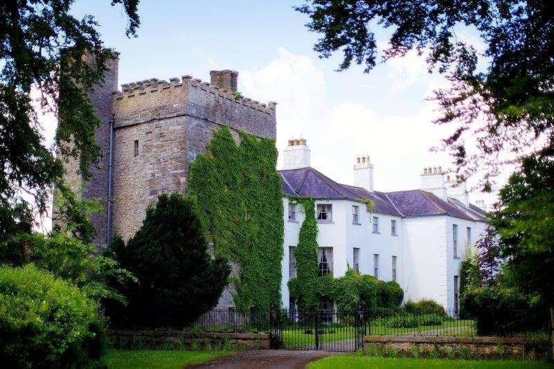
[[[498,252],[521,291],[554,306],[554,150],[524,159],[500,190],[490,224]]]

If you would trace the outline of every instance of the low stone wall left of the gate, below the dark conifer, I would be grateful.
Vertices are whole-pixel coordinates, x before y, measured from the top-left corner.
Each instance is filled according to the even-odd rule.
[[[116,348],[221,348],[258,350],[269,348],[266,333],[188,333],[175,330],[112,330],[109,339]]]

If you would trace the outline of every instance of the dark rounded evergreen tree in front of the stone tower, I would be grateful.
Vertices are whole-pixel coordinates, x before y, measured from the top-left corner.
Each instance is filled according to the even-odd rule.
[[[189,197],[161,195],[127,245],[116,238],[116,258],[139,280],[123,290],[126,308],[107,309],[116,325],[182,328],[215,306],[231,269],[206,252],[196,211]]]

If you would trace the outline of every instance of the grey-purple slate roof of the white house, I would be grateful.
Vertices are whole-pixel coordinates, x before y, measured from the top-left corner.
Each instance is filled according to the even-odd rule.
[[[330,200],[372,200],[375,203],[376,213],[399,217],[449,215],[481,222],[486,220],[485,211],[478,206],[470,204],[468,208],[460,201],[450,197],[448,201],[444,201],[424,190],[369,192],[365,188],[337,183],[312,167],[280,170],[279,172],[283,179],[283,193],[289,196]]]

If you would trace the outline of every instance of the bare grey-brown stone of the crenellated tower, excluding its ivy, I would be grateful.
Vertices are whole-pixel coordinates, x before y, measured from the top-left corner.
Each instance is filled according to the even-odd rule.
[[[97,244],[115,233],[128,240],[161,193],[186,192],[188,166],[206,151],[214,130],[229,127],[237,139],[238,131],[276,138],[276,103],[235,96],[236,71],[211,71],[211,83],[190,75],[169,82],[151,78],[123,84],[121,91],[117,72],[114,61],[105,83],[91,92],[102,119],[96,132],[102,159],[91,180],[82,183],[82,198],[99,199],[104,206],[93,217]],[[73,160],[66,170],[68,179],[78,183]]]

